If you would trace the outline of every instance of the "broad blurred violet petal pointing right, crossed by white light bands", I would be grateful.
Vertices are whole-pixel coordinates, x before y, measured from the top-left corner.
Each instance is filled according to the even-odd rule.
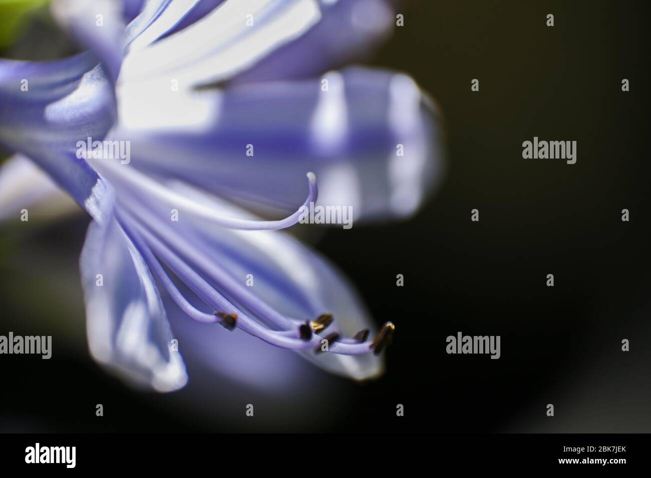
[[[408,76],[349,68],[301,81],[169,92],[122,85],[113,139],[132,164],[236,200],[288,211],[316,173],[318,204],[353,218],[407,217],[442,174],[440,118]],[[252,154],[252,155],[251,155]]]

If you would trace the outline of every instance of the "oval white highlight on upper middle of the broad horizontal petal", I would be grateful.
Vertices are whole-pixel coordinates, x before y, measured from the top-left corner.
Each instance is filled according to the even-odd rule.
[[[321,150],[339,148],[348,133],[348,107],[346,105],[346,86],[339,72],[329,72],[327,91],[320,90],[319,100],[312,114],[312,140]]]

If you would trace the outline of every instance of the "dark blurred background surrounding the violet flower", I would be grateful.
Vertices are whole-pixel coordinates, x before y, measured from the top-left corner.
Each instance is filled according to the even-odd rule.
[[[447,176],[413,219],[328,230],[316,245],[378,323],[396,324],[385,376],[360,385],[314,369],[343,405],[320,406],[326,396],[311,421],[264,425],[134,392],[89,358],[81,288],[61,280],[78,277],[87,219],[30,222],[0,240],[2,321],[71,345],[46,366],[2,358],[3,431],[651,431],[646,3],[419,1],[402,12],[371,63],[436,98]],[[522,159],[534,136],[576,140],[577,163]],[[501,358],[446,354],[458,331],[500,335]],[[96,418],[95,403],[110,416]]]

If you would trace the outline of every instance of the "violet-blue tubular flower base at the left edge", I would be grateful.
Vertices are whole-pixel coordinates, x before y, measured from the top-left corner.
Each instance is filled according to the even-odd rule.
[[[53,62],[0,60],[0,142],[48,172],[97,220],[105,193],[79,157],[115,120],[113,85],[88,53]]]

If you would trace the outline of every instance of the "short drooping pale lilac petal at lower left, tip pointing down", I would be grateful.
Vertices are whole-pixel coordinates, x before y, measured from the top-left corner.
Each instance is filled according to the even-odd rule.
[[[172,336],[156,284],[117,220],[91,222],[80,265],[92,356],[158,392],[184,386],[185,365],[180,354],[171,351]]]

